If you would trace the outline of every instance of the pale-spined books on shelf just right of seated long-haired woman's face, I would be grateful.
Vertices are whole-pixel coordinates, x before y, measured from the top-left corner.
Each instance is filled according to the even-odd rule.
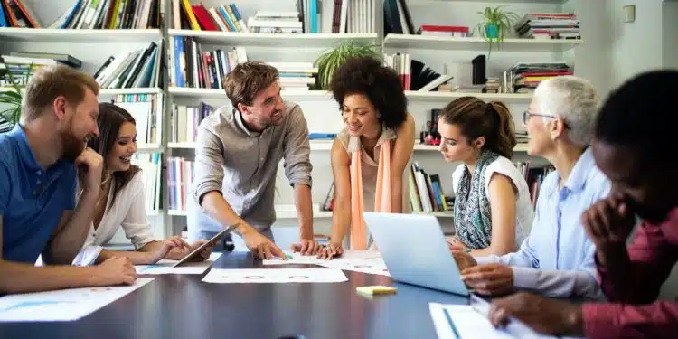
[[[132,157],[132,164],[141,168],[144,175],[144,195],[146,213],[159,211],[163,208],[162,199],[162,167],[163,155],[159,152],[136,153]]]

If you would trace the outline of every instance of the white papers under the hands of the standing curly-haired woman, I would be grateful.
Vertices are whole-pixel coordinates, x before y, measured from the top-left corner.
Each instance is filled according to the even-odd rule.
[[[304,256],[299,253],[287,254],[289,254],[292,258],[287,260],[279,258],[264,260],[264,265],[317,265],[324,268],[338,268],[356,272],[390,276],[389,270],[386,268],[386,264],[381,258],[381,253],[374,250],[345,250],[341,257],[334,258],[332,260],[318,259],[315,255]]]

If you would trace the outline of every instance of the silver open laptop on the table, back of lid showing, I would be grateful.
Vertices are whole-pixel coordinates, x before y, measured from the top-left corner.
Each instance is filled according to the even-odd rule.
[[[363,212],[363,218],[391,278],[462,296],[470,294],[436,217]]]

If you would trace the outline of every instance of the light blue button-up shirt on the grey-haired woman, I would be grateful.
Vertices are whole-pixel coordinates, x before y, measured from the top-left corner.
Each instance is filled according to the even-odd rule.
[[[596,167],[590,148],[579,157],[562,188],[559,183],[558,171],[544,179],[532,231],[520,250],[476,261],[511,266],[514,287],[546,297],[601,298],[596,247],[584,231],[581,214],[607,196],[610,183]]]

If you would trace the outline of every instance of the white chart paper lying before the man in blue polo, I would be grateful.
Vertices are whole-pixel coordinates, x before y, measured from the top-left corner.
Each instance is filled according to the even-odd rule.
[[[0,322],[78,320],[152,280],[137,278],[132,286],[82,287],[0,297]]]

